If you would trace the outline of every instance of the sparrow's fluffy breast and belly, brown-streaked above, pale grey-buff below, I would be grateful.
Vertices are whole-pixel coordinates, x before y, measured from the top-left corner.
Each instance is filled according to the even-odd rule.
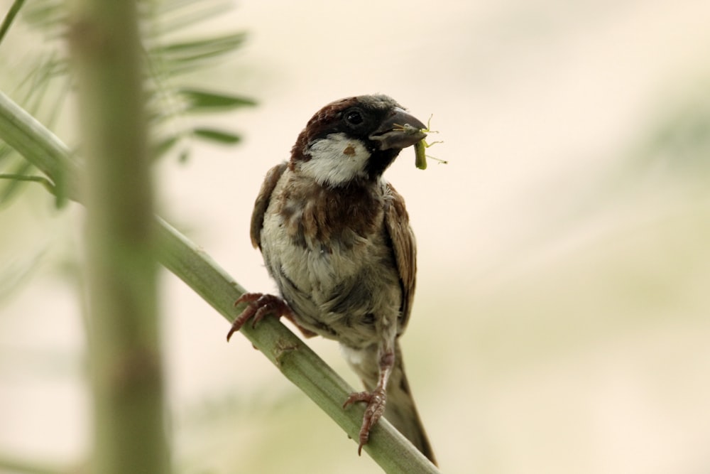
[[[277,186],[261,245],[282,295],[315,332],[342,339],[357,325],[366,340],[373,315],[396,318],[400,283],[377,188]]]

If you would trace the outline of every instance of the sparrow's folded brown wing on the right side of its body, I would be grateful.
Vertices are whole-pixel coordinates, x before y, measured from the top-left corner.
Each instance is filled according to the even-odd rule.
[[[417,279],[417,245],[414,232],[409,227],[409,215],[404,205],[404,198],[389,183],[386,185],[385,226],[390,237],[395,262],[402,285],[402,313],[400,314],[401,333],[412,311],[414,287]]]

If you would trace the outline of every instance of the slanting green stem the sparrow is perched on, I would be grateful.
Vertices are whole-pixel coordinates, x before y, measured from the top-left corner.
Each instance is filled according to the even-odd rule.
[[[8,115],[13,118],[9,119]],[[60,171],[66,173],[67,182],[75,183],[77,167],[68,159],[67,147],[47,129],[23,125],[33,121],[26,111],[17,107],[0,92],[0,139],[6,140],[10,146],[20,151],[28,161],[46,173],[48,178],[54,179],[53,173],[59,167],[67,170]],[[6,133],[6,126],[11,127],[9,133]],[[26,134],[21,133],[22,130],[25,130]],[[27,153],[21,151],[20,148],[31,141],[40,143],[37,146],[27,146]],[[71,186],[67,192],[70,196],[77,195]],[[245,290],[205,254],[204,250],[165,221],[158,218],[156,226],[159,261],[185,281],[227,321],[233,321],[239,313],[239,308],[234,308],[234,301]],[[363,408],[352,406],[347,410],[342,409],[344,400],[353,389],[285,325],[275,318],[265,318],[256,329],[247,324],[241,328],[240,333],[351,438],[358,438]],[[225,361],[224,370],[239,370],[239,361]],[[388,473],[439,472],[386,419],[378,421],[364,450]],[[353,442],[353,455],[355,453],[356,443]]]

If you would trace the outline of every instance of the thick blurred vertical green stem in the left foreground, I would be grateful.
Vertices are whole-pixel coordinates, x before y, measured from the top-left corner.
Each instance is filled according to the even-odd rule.
[[[168,473],[136,2],[77,1],[68,37],[86,158],[91,468]]]

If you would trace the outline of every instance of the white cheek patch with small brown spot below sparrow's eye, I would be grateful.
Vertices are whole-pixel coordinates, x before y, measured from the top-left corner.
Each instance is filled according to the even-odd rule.
[[[370,152],[361,141],[338,133],[311,144],[310,156],[310,160],[300,163],[301,173],[320,185],[337,186],[365,176]]]

